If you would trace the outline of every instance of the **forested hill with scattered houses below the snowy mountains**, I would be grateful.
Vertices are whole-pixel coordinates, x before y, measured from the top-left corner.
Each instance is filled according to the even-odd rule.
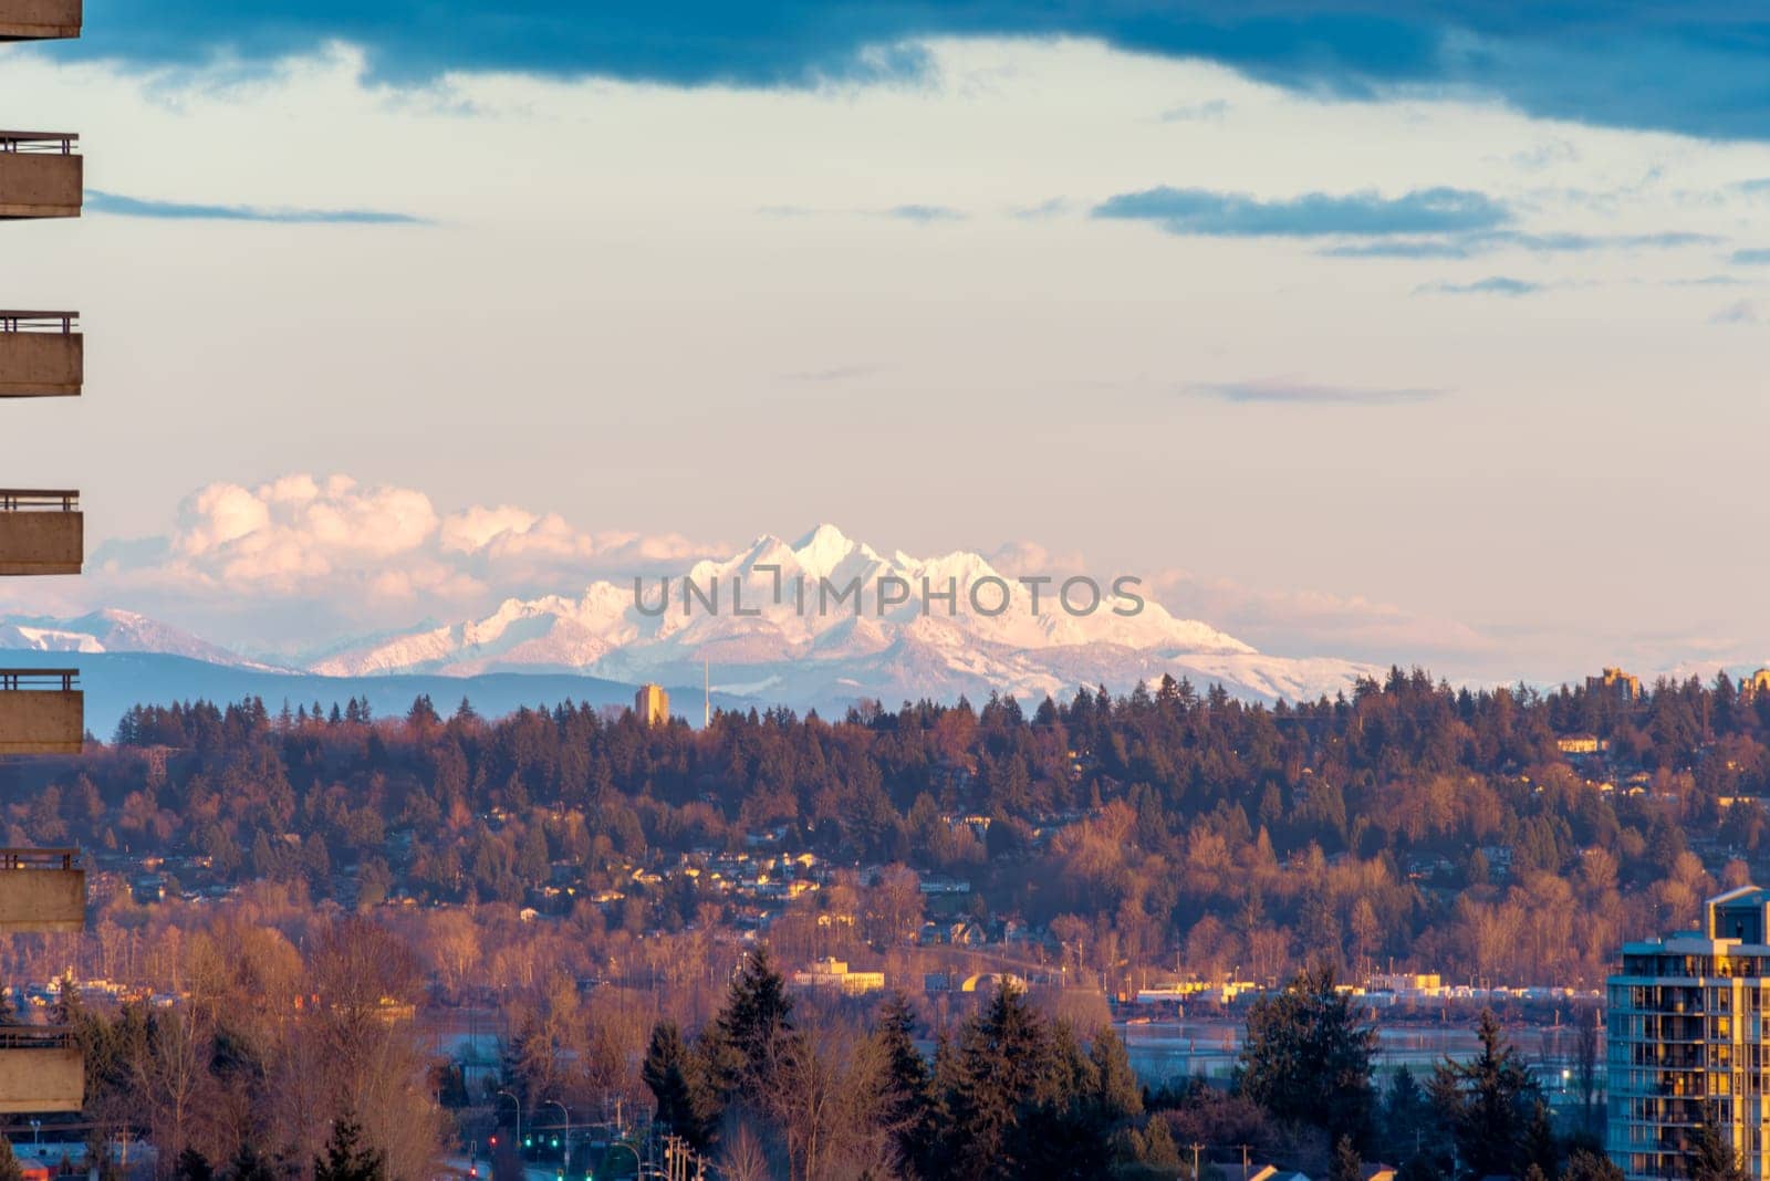
[[[1563,753],[1568,735],[1607,750]],[[1630,698],[1395,670],[1276,709],[1165,681],[1032,709],[724,712],[704,732],[572,704],[489,721],[428,698],[404,718],[248,700],[135,709],[113,746],[0,783],[7,843],[186,857],[168,863],[186,889],[274,877],[547,909],[620,880],[614,921],[671,928],[731,911],[667,866],[761,842],[965,879],[984,925],[1087,928],[1106,967],[1276,978],[1328,953],[1591,983],[1623,939],[1761,873],[1766,735],[1770,693],[1726,677]]]

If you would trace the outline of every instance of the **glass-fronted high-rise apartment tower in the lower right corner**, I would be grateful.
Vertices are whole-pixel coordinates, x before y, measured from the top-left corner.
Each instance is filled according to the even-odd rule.
[[[1710,898],[1703,928],[1623,948],[1609,979],[1605,1149],[1630,1177],[1687,1177],[1712,1121],[1751,1177],[1770,1177],[1770,889]]]

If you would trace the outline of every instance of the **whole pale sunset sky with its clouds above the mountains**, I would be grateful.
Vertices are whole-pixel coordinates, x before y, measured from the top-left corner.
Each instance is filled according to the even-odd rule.
[[[87,394],[4,454],[92,575],[0,612],[274,647],[828,520],[1278,654],[1756,667],[1770,21],[1657,12],[90,0],[0,106],[81,134],[4,233]]]

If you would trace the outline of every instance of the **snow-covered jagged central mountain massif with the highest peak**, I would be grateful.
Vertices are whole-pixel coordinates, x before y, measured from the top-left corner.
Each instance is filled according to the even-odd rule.
[[[596,582],[577,599],[506,599],[478,621],[342,647],[310,670],[575,670],[627,682],[692,684],[708,661],[719,684],[766,684],[770,700],[825,707],[858,697],[894,702],[991,690],[1035,697],[1076,684],[1129,690],[1163,672],[1221,681],[1264,700],[1294,700],[1333,693],[1375,672],[1345,661],[1266,656],[1152,601],[1136,613],[1115,613],[1113,606],[1129,612],[1131,603],[1113,598],[1104,582],[1096,610],[1085,612],[1092,592],[1080,583],[1066,608],[1060,578],[1034,589],[965,552],[883,557],[834,525],[791,545],[758,537],[727,560],[697,562],[687,580],[660,583],[643,583],[643,608],[630,583],[612,582]],[[956,592],[952,601],[940,598],[949,590]]]

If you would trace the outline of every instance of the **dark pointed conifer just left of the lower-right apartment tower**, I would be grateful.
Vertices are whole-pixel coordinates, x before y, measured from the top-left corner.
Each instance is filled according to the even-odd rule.
[[[1526,1165],[1526,1135],[1542,1091],[1492,1010],[1481,1011],[1476,1034],[1481,1040],[1476,1057],[1466,1063],[1446,1057],[1434,1068],[1432,1107],[1457,1146],[1460,1172],[1517,1176]]]

